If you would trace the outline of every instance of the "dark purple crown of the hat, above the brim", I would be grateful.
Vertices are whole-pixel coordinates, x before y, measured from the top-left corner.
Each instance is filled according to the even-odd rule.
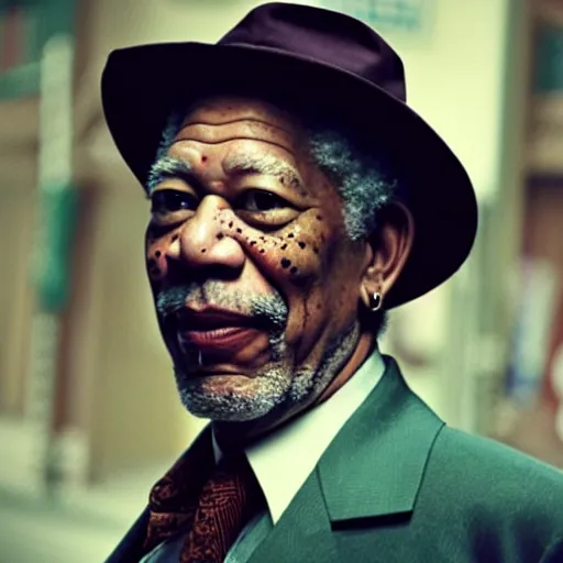
[[[262,4],[218,43],[271,48],[317,60],[406,101],[398,54],[368,25],[339,12],[282,2]]]

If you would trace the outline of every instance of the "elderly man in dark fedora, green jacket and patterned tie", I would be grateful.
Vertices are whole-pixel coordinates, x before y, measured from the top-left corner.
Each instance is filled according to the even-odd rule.
[[[561,473],[448,428],[377,350],[477,222],[382,37],[265,4],[217,45],[113,53],[102,95],[181,401],[211,419],[109,561],[563,561]]]

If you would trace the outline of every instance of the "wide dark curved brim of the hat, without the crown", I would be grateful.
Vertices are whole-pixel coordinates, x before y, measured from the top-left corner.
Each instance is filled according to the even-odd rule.
[[[338,114],[388,146],[408,185],[415,242],[386,308],[428,292],[467,257],[477,229],[471,180],[443,140],[406,103],[356,75],[271,47],[162,43],[111,53],[102,103],[118,150],[141,184],[155,158],[177,89],[189,104],[214,88],[265,87]],[[338,112],[338,113],[334,113]]]

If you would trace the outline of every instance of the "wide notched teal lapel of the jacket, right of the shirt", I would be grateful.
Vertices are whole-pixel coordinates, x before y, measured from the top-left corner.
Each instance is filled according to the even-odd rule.
[[[331,522],[411,511],[444,424],[384,358],[382,380],[319,462]]]

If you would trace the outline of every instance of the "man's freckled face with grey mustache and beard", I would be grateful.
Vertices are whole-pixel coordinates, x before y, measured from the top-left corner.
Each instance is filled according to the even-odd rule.
[[[147,272],[185,406],[243,421],[310,405],[356,345],[365,245],[298,125],[209,99],[151,186]]]

